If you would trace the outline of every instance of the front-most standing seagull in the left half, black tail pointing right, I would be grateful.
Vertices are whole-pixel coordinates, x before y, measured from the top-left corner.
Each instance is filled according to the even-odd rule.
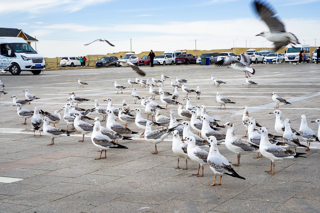
[[[95,160],[101,159],[101,155],[102,155],[103,150],[104,150],[104,157],[102,157],[102,158],[107,158],[106,150],[109,148],[127,149],[127,147],[120,145],[120,144],[116,144],[107,135],[102,134],[100,132],[100,128],[101,128],[100,121],[99,120],[95,121],[94,126],[93,126],[93,131],[91,134],[91,141],[92,141],[93,145],[95,145],[96,147],[98,147],[100,149],[100,157],[95,158]]]

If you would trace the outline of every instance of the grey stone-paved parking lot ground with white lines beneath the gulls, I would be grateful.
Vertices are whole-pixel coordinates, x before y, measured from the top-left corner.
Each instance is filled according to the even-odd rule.
[[[245,134],[242,125],[243,106],[252,107],[251,115],[259,123],[275,133],[275,116],[268,114],[273,107],[271,93],[276,92],[291,102],[280,105],[283,118],[290,118],[291,126],[299,129],[300,116],[307,116],[309,127],[315,132],[318,126],[311,121],[319,118],[319,71],[320,66],[302,64],[253,65],[256,74],[252,80],[258,85],[247,88],[244,73],[230,68],[214,66],[157,66],[143,67],[146,77],[159,78],[161,73],[172,78],[188,79],[187,86],[200,86],[202,95],[196,100],[190,95],[192,104],[205,104],[211,115],[216,115],[223,125],[232,121],[236,135]],[[22,72],[24,73],[24,72]],[[204,169],[204,177],[191,174],[198,168],[188,161],[189,170],[175,169],[177,157],[171,150],[170,138],[158,146],[159,154],[152,155],[154,145],[136,138],[119,141],[129,149],[107,151],[107,158],[94,160],[99,155],[89,138],[78,142],[81,135],[56,139],[54,146],[47,146],[50,138],[34,137],[30,130],[30,119],[22,125],[16,107],[12,107],[11,95],[24,98],[25,89],[41,97],[23,108],[51,111],[61,109],[69,93],[74,91],[80,97],[97,99],[106,106],[104,99],[111,97],[115,106],[127,100],[134,109],[132,89],[116,95],[112,82],[126,86],[126,78],[136,74],[130,68],[106,68],[75,71],[48,71],[40,75],[12,76],[6,74],[0,79],[6,85],[7,95],[0,99],[0,176],[20,178],[4,183],[0,178],[0,212],[319,212],[320,211],[320,151],[319,143],[313,143],[305,156],[276,162],[276,173],[269,175],[267,158],[252,158],[255,154],[241,156],[241,164],[235,167],[246,180],[223,177],[221,186],[208,186],[213,182],[213,172]],[[212,85],[211,74],[227,82],[220,87]],[[79,88],[76,79],[89,82]],[[172,91],[170,82],[164,89]],[[181,90],[179,90],[181,91]],[[219,92],[236,104],[227,105],[227,110],[218,110],[215,94]],[[139,88],[137,93],[148,96],[148,90]],[[183,98],[180,92],[181,101]],[[161,103],[159,97],[156,97]],[[80,104],[92,108],[93,102]],[[177,107],[171,106],[177,113]],[[162,110],[168,116],[169,110]],[[62,113],[61,113],[62,114]],[[94,118],[92,114],[90,117]],[[146,117],[143,114],[143,117]],[[178,117],[178,116],[177,116]],[[102,122],[105,125],[105,122]],[[60,128],[67,125],[61,121]],[[142,132],[134,124],[128,125],[134,131]],[[223,130],[222,132],[225,132]],[[138,137],[135,135],[134,137]],[[300,138],[300,140],[302,140]],[[302,140],[303,141],[303,140]],[[305,144],[305,143],[304,143]],[[224,144],[220,153],[235,163],[236,155]],[[299,152],[304,149],[298,148]],[[180,161],[184,166],[184,162]],[[10,182],[6,181],[6,182]]]

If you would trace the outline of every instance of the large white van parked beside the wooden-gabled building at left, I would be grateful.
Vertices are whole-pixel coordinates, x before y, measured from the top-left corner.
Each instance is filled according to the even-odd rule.
[[[0,37],[0,68],[11,64],[9,72],[12,75],[19,75],[21,71],[38,75],[45,69],[44,58],[23,38]]]

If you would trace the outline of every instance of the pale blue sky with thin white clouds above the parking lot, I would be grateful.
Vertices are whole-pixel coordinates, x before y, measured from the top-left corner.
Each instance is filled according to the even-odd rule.
[[[269,4],[301,44],[314,46],[316,39],[320,45],[320,0]],[[0,26],[36,36],[39,42],[31,46],[44,57],[272,47],[255,36],[269,29],[248,0],[14,0],[2,2],[0,13],[6,17]],[[115,46],[83,45],[99,38]]]

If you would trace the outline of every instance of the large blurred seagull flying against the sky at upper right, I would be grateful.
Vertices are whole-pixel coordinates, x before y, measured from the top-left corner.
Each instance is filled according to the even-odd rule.
[[[270,29],[270,32],[257,34],[265,37],[268,41],[273,42],[275,52],[288,44],[300,44],[298,38],[285,30],[284,24],[276,17],[276,12],[260,0],[253,1],[253,8]],[[293,46],[292,46],[293,47]]]

